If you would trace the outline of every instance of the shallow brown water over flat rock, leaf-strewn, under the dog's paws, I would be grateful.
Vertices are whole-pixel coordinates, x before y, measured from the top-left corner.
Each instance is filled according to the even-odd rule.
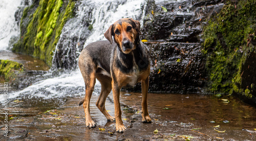
[[[91,99],[91,115],[96,128],[85,126],[80,97],[42,99],[26,97],[10,100],[1,109],[1,139],[4,112],[8,110],[9,140],[255,140],[256,109],[232,96],[149,93],[151,124],[141,123],[140,93],[121,93],[122,119],[127,130],[115,132],[115,122],[107,122]],[[224,99],[224,100],[222,100]],[[114,115],[112,94],[106,110]],[[217,126],[217,127],[214,127]],[[158,133],[154,134],[155,130]],[[217,130],[217,131],[216,131]],[[219,131],[219,132],[218,132]],[[222,131],[222,132],[220,132]],[[225,131],[225,132],[223,132]]]

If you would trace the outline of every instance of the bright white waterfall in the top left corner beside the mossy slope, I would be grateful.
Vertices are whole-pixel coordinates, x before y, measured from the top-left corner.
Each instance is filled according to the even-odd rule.
[[[22,0],[0,0],[0,50],[7,50],[12,36],[19,35],[15,12]]]

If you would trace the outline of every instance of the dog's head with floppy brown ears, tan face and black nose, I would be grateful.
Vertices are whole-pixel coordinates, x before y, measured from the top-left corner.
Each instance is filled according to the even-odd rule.
[[[136,43],[139,41],[140,22],[132,18],[122,18],[117,20],[104,33],[106,39],[112,44],[114,37],[115,42],[124,54],[129,54],[136,49]]]

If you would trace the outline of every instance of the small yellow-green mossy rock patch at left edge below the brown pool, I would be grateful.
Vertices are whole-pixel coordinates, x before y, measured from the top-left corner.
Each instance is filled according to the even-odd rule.
[[[0,60],[0,75],[8,81],[12,81],[15,78],[15,70],[18,72],[23,72],[23,64],[9,61]]]

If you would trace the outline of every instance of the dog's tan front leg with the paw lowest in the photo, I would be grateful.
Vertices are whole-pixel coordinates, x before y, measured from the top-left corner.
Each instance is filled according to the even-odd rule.
[[[116,131],[122,133],[126,128],[123,125],[123,121],[121,118],[122,112],[120,107],[120,89],[121,87],[118,86],[117,83],[112,81],[112,91],[113,91],[113,98],[114,98],[114,105],[115,105],[115,119],[116,119]]]

